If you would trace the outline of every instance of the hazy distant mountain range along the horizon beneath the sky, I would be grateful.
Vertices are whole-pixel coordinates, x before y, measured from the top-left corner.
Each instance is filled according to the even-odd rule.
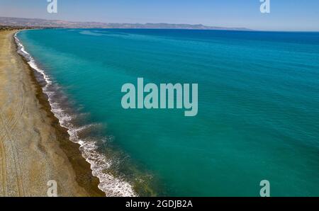
[[[167,28],[167,29],[206,29],[206,30],[250,30],[247,28],[226,28],[206,26],[201,24],[172,24],[172,23],[100,23],[74,22],[60,20],[45,20],[38,18],[7,18],[0,17],[0,25],[31,27],[31,28]]]

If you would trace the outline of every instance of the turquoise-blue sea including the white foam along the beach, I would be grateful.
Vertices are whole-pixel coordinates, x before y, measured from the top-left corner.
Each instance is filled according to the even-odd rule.
[[[319,196],[319,33],[50,29],[17,35],[107,195]],[[43,78],[44,76],[44,78]],[[198,84],[198,115],[121,106]]]

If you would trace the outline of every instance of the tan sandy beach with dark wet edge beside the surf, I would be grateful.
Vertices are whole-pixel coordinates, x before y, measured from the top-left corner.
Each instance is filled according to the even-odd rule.
[[[0,31],[0,196],[103,196],[98,179],[50,112],[33,70]]]

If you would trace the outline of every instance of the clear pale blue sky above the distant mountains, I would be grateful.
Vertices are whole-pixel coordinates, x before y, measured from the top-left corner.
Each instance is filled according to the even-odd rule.
[[[319,0],[270,0],[271,13],[259,0],[57,0],[58,13],[47,13],[47,0],[0,0],[0,16],[107,23],[202,23],[254,30],[319,31]]]

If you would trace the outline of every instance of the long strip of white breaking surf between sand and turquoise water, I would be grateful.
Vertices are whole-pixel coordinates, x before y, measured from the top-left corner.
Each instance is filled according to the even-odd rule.
[[[35,72],[40,74],[39,83],[43,84],[43,93],[47,95],[48,101],[51,106],[51,111],[55,117],[59,120],[62,127],[67,128],[70,140],[80,145],[79,150],[82,152],[82,156],[91,165],[93,176],[99,178],[99,189],[106,193],[106,196],[137,196],[137,193],[133,190],[133,186],[125,181],[123,178],[118,178],[106,173],[111,168],[114,162],[118,162],[113,159],[108,159],[104,154],[99,152],[99,146],[97,140],[89,137],[85,137],[83,133],[94,130],[95,127],[99,127],[99,124],[90,124],[84,126],[78,126],[74,124],[74,121],[85,116],[85,113],[74,113],[71,109],[65,108],[64,102],[67,101],[66,97],[61,97],[62,91],[60,87],[53,83],[43,69],[35,62],[35,59],[26,51],[21,41],[17,38],[16,33],[14,39],[18,45],[18,53],[26,58],[28,64]],[[58,97],[60,96],[60,97]],[[83,138],[84,137],[84,138]],[[106,142],[106,137],[101,142]]]

